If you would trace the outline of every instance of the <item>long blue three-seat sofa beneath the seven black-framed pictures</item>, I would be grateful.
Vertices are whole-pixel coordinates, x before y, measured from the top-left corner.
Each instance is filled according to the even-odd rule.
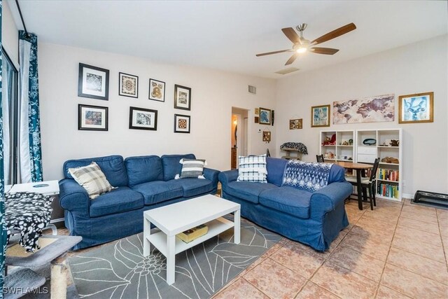
[[[215,194],[219,172],[204,168],[206,179],[174,179],[181,173],[182,158],[195,155],[146,155],[123,160],[120,155],[68,160],[65,179],[59,181],[59,202],[70,235],[83,237],[73,249],[102,244],[143,231],[143,212],[192,197]],[[87,191],[68,169],[97,162],[113,187],[90,200]]]

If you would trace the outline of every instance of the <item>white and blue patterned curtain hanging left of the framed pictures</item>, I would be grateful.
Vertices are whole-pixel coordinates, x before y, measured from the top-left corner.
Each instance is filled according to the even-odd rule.
[[[36,34],[19,31],[19,61],[20,176],[22,183],[29,183],[42,181]]]

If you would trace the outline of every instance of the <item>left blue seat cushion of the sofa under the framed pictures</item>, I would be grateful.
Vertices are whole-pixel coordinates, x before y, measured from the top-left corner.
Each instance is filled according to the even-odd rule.
[[[90,217],[122,213],[143,206],[143,195],[128,187],[120,187],[91,200]]]

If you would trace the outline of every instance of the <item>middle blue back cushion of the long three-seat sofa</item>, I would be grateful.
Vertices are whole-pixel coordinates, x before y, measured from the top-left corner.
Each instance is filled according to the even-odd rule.
[[[157,155],[143,155],[125,159],[129,186],[163,180],[162,160]]]

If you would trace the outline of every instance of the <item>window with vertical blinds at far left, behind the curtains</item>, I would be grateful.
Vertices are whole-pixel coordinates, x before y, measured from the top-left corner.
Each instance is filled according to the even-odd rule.
[[[18,182],[18,69],[3,48],[3,159],[5,185]]]

